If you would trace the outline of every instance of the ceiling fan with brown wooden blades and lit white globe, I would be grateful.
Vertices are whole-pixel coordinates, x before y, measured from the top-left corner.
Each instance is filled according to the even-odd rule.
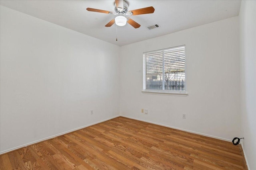
[[[131,15],[141,15],[141,14],[151,14],[154,13],[155,9],[150,6],[146,8],[140,8],[137,10],[131,10],[128,11],[128,2],[125,0],[115,0],[115,13],[111,11],[105,11],[105,10],[98,10],[94,8],[86,8],[86,10],[91,12],[101,12],[105,14],[112,14],[117,15],[113,20],[111,20],[109,23],[105,25],[105,27],[111,27],[114,23],[118,26],[124,26],[126,25],[126,22],[132,25],[134,28],[140,27],[140,24],[132,20],[131,18],[127,16]]]

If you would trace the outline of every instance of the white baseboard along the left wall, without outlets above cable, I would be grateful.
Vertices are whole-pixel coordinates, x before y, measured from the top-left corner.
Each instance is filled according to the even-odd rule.
[[[110,120],[110,119],[114,119],[114,118],[119,117],[119,116],[120,116],[120,115],[117,115],[117,116],[111,117],[111,118],[109,118],[109,119],[104,119],[104,120],[102,120],[102,121],[98,121],[98,122],[95,122],[95,123],[92,123],[92,124],[89,124],[89,125],[85,125],[85,126],[82,126],[82,127],[78,127],[78,128],[76,128],[76,129],[72,129],[72,130],[70,130],[70,131],[66,131],[66,132],[63,132],[63,133],[59,133],[59,134],[57,134],[57,135],[53,135],[53,136],[50,136],[50,137],[46,137],[46,138],[40,139],[40,140],[38,140],[38,141],[30,142],[30,143],[27,143],[27,144],[25,144],[25,145],[20,145],[20,146],[18,146],[18,147],[14,147],[14,148],[11,148],[11,149],[7,149],[7,150],[4,150],[4,151],[0,152],[0,154],[4,154],[4,153],[6,153],[6,152],[11,152],[11,151],[13,151],[13,150],[17,150],[17,149],[20,149],[20,148],[23,148],[23,147],[27,147],[27,146],[29,146],[29,145],[34,145],[34,144],[36,144],[36,143],[40,143],[40,142],[42,142],[42,141],[46,141],[46,140],[49,140],[49,139],[53,139],[53,138],[56,138],[56,137],[58,137],[58,136],[65,135],[65,134],[67,134],[67,133],[70,133],[70,132],[73,132],[73,131],[77,131],[77,130],[79,130],[79,129],[83,129],[83,128],[88,127],[88,126],[92,126],[92,125],[95,125],[95,124],[98,124],[98,123],[101,123],[101,122],[104,122],[104,121],[108,121],[108,120]]]

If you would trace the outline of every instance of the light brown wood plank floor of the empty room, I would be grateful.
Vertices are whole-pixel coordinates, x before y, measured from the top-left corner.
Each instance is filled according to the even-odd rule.
[[[240,145],[125,117],[3,154],[0,168],[247,169]]]

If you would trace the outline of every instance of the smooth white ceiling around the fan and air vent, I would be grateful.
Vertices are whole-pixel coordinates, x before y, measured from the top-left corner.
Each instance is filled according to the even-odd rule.
[[[141,26],[105,27],[115,16],[89,12],[96,8],[114,12],[114,0],[0,0],[2,6],[119,46],[183,29],[238,16],[241,0],[128,0],[128,10],[153,6],[153,14],[130,16]],[[148,30],[146,27],[159,24]]]

